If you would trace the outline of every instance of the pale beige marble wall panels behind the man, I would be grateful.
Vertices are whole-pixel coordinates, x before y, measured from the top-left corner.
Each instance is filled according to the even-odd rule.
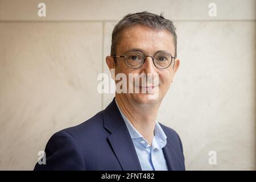
[[[255,1],[47,0],[44,18],[39,2],[0,0],[0,169],[32,169],[53,133],[109,104],[97,76],[113,26],[143,10],[177,27],[180,68],[158,121],[179,133],[187,169],[255,169]]]

